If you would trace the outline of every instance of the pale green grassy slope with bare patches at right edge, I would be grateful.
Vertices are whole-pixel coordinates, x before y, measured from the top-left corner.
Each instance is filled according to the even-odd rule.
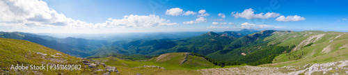
[[[309,47],[303,47],[306,44],[300,45],[303,40],[309,39],[310,36],[319,34],[324,34],[324,36],[320,37],[317,41],[315,41],[315,39],[317,38],[310,40],[309,43],[315,41],[313,42],[313,45],[310,45]],[[305,63],[328,63],[333,61],[347,60],[348,47],[345,47],[345,45],[348,45],[347,37],[348,34],[343,32],[321,31],[287,32],[274,34],[273,36],[270,36],[268,38],[274,39],[274,41],[271,41],[269,44],[283,41],[283,43],[280,43],[279,45],[296,45],[300,48],[298,48],[298,50],[293,50],[290,53],[276,56],[273,61],[274,64],[266,65],[272,67],[283,67],[285,65],[298,66],[305,65]],[[323,52],[323,50],[327,50],[328,52]]]

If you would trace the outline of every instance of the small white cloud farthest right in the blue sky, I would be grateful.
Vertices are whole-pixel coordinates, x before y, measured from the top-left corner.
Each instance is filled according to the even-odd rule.
[[[287,16],[287,17],[284,17],[284,16],[280,16],[276,19],[276,21],[303,21],[303,20],[306,20],[304,17],[300,17],[300,16]]]

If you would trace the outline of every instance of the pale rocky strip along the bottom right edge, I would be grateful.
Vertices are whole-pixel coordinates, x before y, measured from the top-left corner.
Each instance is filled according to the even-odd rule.
[[[242,66],[230,68],[210,68],[199,69],[203,75],[219,75],[219,74],[246,74],[246,75],[317,75],[317,74],[348,74],[348,60],[336,61],[331,63],[315,63],[304,64],[302,68],[294,66],[284,67],[256,67],[256,66]]]

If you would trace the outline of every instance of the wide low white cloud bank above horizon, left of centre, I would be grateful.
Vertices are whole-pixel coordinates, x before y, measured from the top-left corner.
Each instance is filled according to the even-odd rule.
[[[123,17],[123,19],[108,19],[105,23],[95,24],[95,28],[100,27],[112,27],[120,26],[123,28],[134,28],[134,27],[155,27],[155,26],[164,26],[164,25],[178,25],[177,23],[170,23],[169,20],[161,19],[155,14],[150,14],[149,16],[139,16],[139,15],[129,15]]]

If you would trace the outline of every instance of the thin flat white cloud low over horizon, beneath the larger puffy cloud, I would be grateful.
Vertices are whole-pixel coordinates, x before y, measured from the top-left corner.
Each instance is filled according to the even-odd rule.
[[[253,23],[242,23],[241,24],[242,27],[241,28],[249,28],[249,29],[253,29],[253,28],[284,28],[285,26],[275,26],[275,25],[256,25]]]

